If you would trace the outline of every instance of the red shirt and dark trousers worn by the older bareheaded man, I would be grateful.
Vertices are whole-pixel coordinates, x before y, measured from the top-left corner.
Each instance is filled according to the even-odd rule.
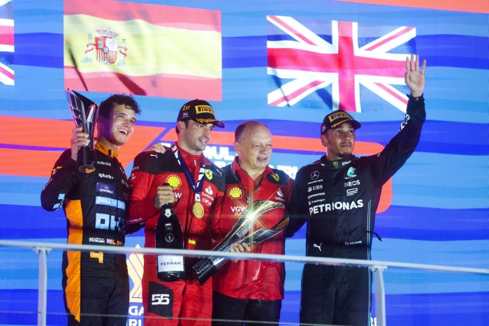
[[[282,221],[289,207],[293,181],[280,170],[265,168],[258,184],[240,168],[238,158],[224,168],[226,192],[219,218],[218,239],[226,237],[238,218],[255,200],[270,200],[284,205],[264,213],[258,221],[273,228]],[[219,243],[220,240],[217,241]],[[252,253],[284,254],[285,233],[251,246]],[[261,320],[278,323],[284,298],[284,263],[260,260],[226,262],[214,274],[214,306],[212,317],[237,320],[222,325],[242,325],[238,320]],[[215,323],[221,325],[220,323]],[[251,325],[251,324],[250,324]]]

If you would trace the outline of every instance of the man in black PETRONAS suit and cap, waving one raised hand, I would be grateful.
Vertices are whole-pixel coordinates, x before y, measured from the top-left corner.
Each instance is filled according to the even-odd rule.
[[[291,200],[291,237],[307,221],[306,255],[370,260],[375,212],[382,186],[418,145],[425,121],[426,61],[406,59],[404,80],[411,90],[400,131],[376,155],[351,154],[360,123],[338,110],[321,125],[327,154],[302,167]],[[379,236],[377,236],[379,237]],[[305,265],[300,323],[370,325],[372,273],[367,268]]]

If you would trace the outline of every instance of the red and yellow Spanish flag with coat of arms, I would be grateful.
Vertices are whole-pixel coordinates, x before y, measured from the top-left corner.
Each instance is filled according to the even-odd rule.
[[[64,1],[64,42],[69,89],[222,100],[219,11]]]

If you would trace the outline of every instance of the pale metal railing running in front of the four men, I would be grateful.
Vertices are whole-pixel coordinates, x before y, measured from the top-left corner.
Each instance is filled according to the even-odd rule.
[[[14,248],[33,249],[39,255],[39,288],[38,288],[38,325],[46,325],[47,293],[48,293],[48,268],[47,255],[52,250],[59,251],[102,251],[104,253],[140,253],[140,254],[171,254],[189,257],[224,257],[241,260],[268,260],[277,262],[302,262],[317,265],[367,267],[374,273],[375,279],[375,312],[377,325],[386,325],[386,291],[384,287],[384,270],[388,267],[407,269],[424,269],[437,272],[458,272],[468,274],[485,274],[489,276],[489,269],[453,267],[443,265],[425,265],[409,262],[387,262],[380,260],[357,260],[344,258],[319,258],[294,255],[271,255],[259,253],[231,253],[203,250],[183,249],[154,249],[131,248],[122,246],[94,246],[88,244],[56,244],[48,242],[21,242],[0,240],[0,246]]]

